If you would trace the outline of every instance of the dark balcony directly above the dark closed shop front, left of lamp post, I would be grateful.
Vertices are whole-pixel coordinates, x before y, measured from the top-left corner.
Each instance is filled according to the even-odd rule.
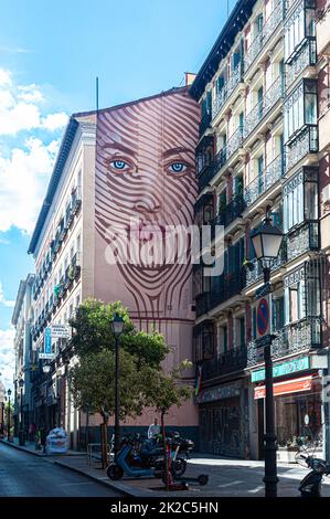
[[[246,347],[233,348],[225,353],[203,362],[202,380],[216,379],[224,374],[244,370],[247,363]]]

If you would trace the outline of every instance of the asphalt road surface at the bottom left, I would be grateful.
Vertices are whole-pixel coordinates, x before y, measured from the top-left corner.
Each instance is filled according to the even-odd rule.
[[[50,460],[0,444],[0,496],[119,497],[119,494]]]

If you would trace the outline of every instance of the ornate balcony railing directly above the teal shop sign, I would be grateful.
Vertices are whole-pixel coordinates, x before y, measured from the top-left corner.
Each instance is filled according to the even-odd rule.
[[[301,319],[274,333],[276,338],[272,342],[273,359],[280,359],[322,346],[320,317]],[[252,341],[247,348],[247,367],[251,368],[260,362],[263,362],[263,356],[258,351],[256,341]]]

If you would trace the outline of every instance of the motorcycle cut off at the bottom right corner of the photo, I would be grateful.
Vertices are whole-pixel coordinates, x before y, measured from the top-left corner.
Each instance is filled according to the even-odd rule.
[[[302,479],[299,486],[301,497],[322,497],[322,481],[323,477],[330,475],[330,464],[324,459],[313,457],[308,454],[297,454],[297,460],[310,468],[310,473]]]

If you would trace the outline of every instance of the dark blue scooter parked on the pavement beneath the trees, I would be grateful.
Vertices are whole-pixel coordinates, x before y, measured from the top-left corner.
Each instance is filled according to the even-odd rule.
[[[187,459],[179,454],[181,445],[178,439],[172,443],[170,438],[167,438],[167,443],[171,447],[172,474],[174,477],[182,476],[187,468]],[[164,465],[162,444],[136,434],[123,438],[120,449],[106,473],[113,480],[120,479],[124,474],[130,477],[161,478]]]

